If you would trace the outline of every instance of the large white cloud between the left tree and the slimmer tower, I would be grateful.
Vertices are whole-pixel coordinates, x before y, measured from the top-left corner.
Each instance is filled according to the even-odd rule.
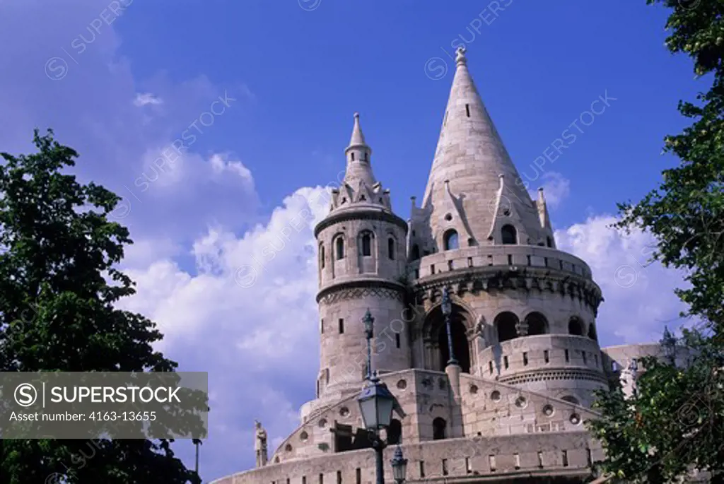
[[[159,349],[181,360],[182,370],[209,370],[214,437],[204,447],[219,469],[251,465],[254,419],[272,444],[280,443],[299,423],[300,396],[313,398],[319,365],[313,226],[328,200],[322,187],[300,188],[267,224],[242,237],[222,226],[209,229],[191,250],[195,275],[171,258],[126,269],[138,293],[120,307],[159,325],[165,336]],[[245,388],[253,391],[239,391]]]

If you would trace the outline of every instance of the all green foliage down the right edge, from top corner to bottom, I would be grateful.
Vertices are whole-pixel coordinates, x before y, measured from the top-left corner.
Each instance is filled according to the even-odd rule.
[[[672,9],[666,46],[694,61],[711,85],[678,110],[691,125],[665,138],[680,163],[639,203],[621,203],[618,229],[657,240],[652,260],[683,271],[676,290],[701,331],[684,331],[686,368],[646,359],[638,393],[599,394],[600,420],[589,423],[607,451],[602,470],[623,482],[669,483],[688,470],[720,471],[724,483],[724,1],[647,0]]]

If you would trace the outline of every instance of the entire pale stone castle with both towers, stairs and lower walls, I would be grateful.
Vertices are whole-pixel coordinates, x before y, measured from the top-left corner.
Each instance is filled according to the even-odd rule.
[[[598,417],[593,391],[631,380],[630,362],[660,348],[599,347],[591,269],[557,250],[543,190],[531,199],[464,50],[456,64],[424,200],[406,223],[355,114],[345,178],[314,229],[316,398],[269,464],[216,484],[374,482],[356,401],[368,309],[372,364],[405,414],[384,430],[384,462],[400,444],[410,481],[590,482],[604,452],[584,425]]]

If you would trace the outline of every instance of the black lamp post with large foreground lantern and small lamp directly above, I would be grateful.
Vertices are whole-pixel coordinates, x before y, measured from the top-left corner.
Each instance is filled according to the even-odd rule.
[[[375,452],[376,462],[376,484],[384,484],[384,467],[382,463],[382,451],[387,443],[379,438],[379,430],[387,428],[392,422],[392,412],[397,412],[400,417],[405,417],[400,404],[394,395],[387,389],[387,385],[379,381],[379,378],[372,372],[371,339],[373,334],[374,318],[369,309],[362,318],[367,339],[367,375],[366,384],[362,389],[357,402],[360,406],[362,423],[369,432],[372,449]]]

